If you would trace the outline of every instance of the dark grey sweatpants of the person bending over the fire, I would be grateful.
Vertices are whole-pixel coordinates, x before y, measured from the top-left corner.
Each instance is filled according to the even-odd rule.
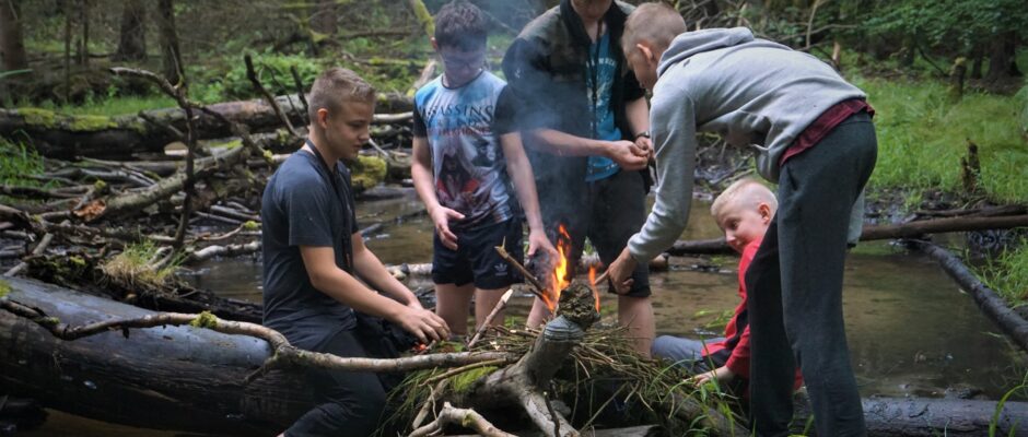
[[[817,435],[866,435],[843,324],[842,273],[850,211],[876,156],[874,125],[858,113],[782,168],[778,214],[745,276],[758,436],[788,434],[797,365]]]

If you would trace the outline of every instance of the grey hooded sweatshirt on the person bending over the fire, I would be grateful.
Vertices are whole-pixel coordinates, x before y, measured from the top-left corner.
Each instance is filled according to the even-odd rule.
[[[780,157],[807,126],[837,103],[864,97],[821,60],[748,28],[678,35],[657,67],[650,126],[658,187],[646,224],[629,240],[632,257],[652,259],[686,227],[697,132],[752,146],[758,172],[776,182]]]

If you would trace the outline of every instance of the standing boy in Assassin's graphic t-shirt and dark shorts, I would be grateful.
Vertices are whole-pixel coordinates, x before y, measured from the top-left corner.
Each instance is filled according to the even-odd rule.
[[[444,5],[432,38],[444,72],[414,95],[411,176],[435,224],[436,314],[455,335],[467,333],[472,294],[478,327],[503,292],[522,281],[493,249],[504,246],[522,258],[522,209],[528,256],[540,249],[557,256],[542,228],[511,94],[484,69],[486,39],[486,19],[477,7],[466,1]],[[512,201],[511,182],[521,208]],[[502,316],[493,321],[502,322]]]

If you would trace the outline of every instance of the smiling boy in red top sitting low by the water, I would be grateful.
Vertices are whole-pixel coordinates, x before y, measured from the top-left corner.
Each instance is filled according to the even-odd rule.
[[[739,305],[725,327],[725,336],[703,342],[671,335],[658,336],[652,354],[689,366],[697,371],[690,382],[700,386],[717,380],[723,387],[746,392],[749,380],[749,320],[746,311],[746,270],[749,268],[771,217],[778,209],[774,193],[755,179],[740,179],[725,189],[711,205],[711,214],[725,233],[725,240],[743,255],[739,260]],[[794,389],[803,383],[796,371]]]

